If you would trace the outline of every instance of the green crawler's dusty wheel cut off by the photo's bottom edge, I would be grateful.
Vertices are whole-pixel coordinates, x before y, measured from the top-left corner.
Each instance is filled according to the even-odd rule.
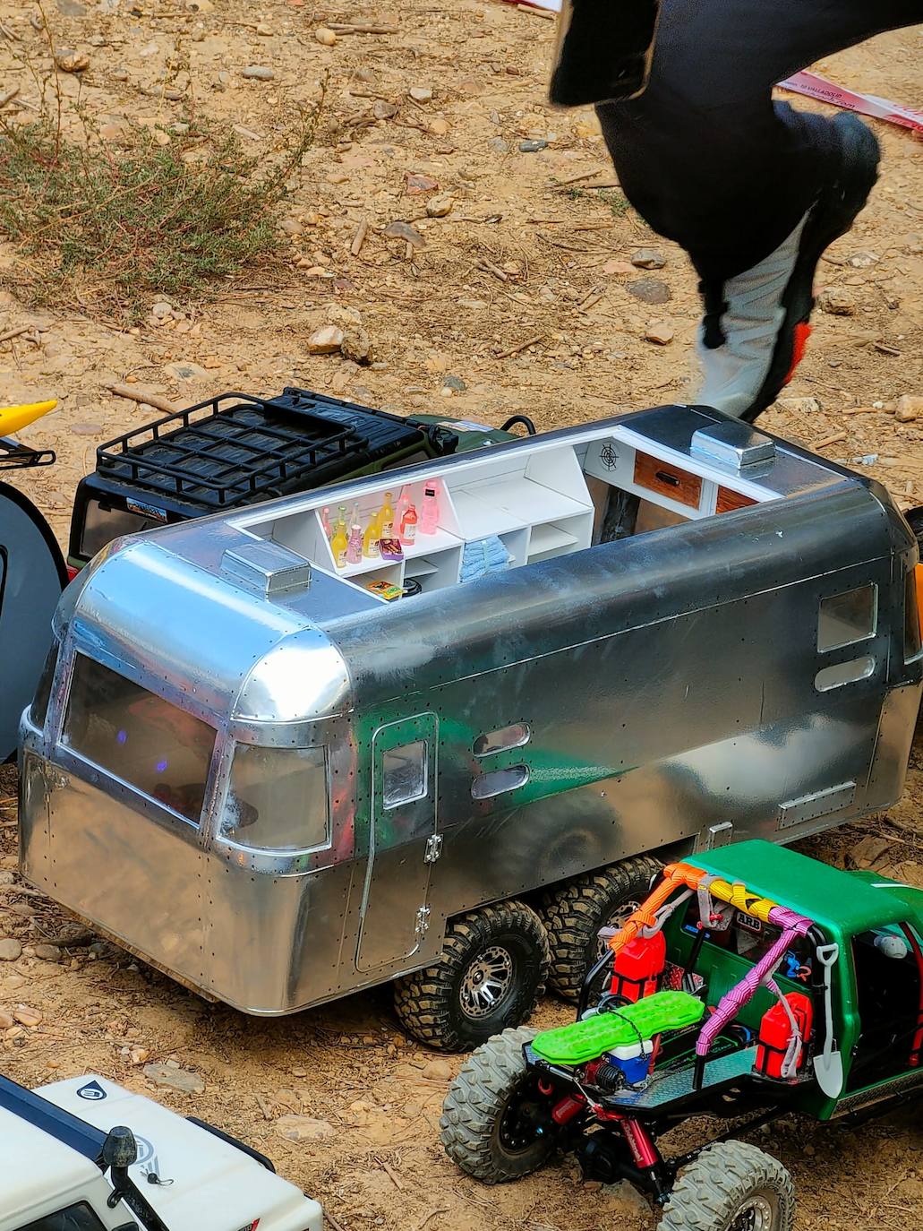
[[[791,1231],[795,1187],[743,1141],[708,1146],[677,1181],[657,1231]]]

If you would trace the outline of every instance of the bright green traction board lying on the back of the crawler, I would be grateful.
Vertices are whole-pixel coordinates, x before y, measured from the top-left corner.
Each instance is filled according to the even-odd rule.
[[[551,1065],[583,1065],[613,1048],[626,1048],[663,1030],[694,1025],[704,1012],[701,1001],[688,992],[655,992],[586,1022],[543,1030],[533,1039],[532,1050]]]

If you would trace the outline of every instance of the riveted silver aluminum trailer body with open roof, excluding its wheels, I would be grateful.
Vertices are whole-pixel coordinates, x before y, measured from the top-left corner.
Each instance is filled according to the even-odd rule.
[[[325,564],[321,503],[433,474],[430,588],[384,603]],[[597,542],[619,490],[676,523]],[[453,583],[491,528],[522,566]],[[23,874],[282,1014],[432,965],[485,904],[793,841],[902,790],[917,560],[881,487],[703,407],[119,540],[66,591],[23,716]]]

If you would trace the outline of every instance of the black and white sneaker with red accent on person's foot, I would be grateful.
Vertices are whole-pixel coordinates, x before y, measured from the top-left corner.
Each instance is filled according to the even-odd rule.
[[[880,150],[873,132],[849,113],[832,123],[843,151],[841,174],[821,190],[795,230],[759,265],[726,282],[699,286],[704,383],[695,400],[751,423],[801,362],[817,262],[853,225],[877,180]]]

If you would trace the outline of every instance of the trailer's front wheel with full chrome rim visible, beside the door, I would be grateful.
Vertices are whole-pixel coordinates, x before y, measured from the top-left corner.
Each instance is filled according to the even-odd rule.
[[[430,1048],[470,1051],[525,1022],[545,990],[548,934],[524,902],[453,920],[439,961],[394,984],[401,1025]]]

